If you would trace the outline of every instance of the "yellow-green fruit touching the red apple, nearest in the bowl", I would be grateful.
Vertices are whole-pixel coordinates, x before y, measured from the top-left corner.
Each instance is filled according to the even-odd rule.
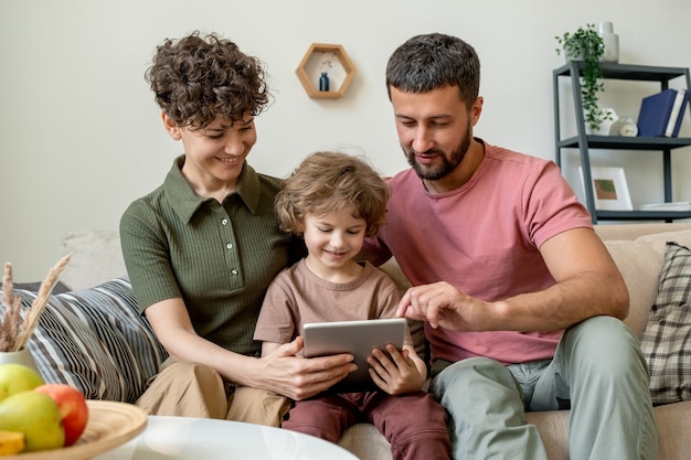
[[[39,392],[15,393],[0,402],[0,430],[23,432],[25,452],[59,449],[65,443],[57,404]]]

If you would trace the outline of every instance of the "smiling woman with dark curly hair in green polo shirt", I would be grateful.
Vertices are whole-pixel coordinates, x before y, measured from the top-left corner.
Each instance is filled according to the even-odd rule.
[[[273,211],[281,181],[246,161],[270,97],[262,63],[194,32],[158,46],[146,78],[184,153],[120,221],[139,309],[170,354],[137,405],[278,426],[283,396],[313,396],[354,365],[350,355],[299,359],[300,339],[261,356],[253,341],[267,286],[305,254]]]

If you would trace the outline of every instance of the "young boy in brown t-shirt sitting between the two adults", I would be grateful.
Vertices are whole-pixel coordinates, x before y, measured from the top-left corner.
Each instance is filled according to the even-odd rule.
[[[355,263],[365,236],[384,222],[389,188],[364,161],[344,153],[309,156],[276,196],[283,229],[305,238],[308,255],[269,285],[254,339],[262,354],[299,335],[307,322],[393,318],[394,282]],[[421,388],[427,375],[410,334],[402,351],[374,350],[370,374],[381,391],[329,393],[296,402],[283,427],[337,442],[369,421],[391,442],[394,459],[448,459],[446,413]]]

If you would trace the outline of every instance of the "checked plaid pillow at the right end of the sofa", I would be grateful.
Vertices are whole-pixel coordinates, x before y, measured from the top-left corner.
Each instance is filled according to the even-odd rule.
[[[668,242],[658,296],[641,336],[652,404],[691,399],[691,250]]]

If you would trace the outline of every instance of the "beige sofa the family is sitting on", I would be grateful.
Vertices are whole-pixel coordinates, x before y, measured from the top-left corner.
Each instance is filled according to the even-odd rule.
[[[599,225],[596,232],[619,266],[630,292],[631,308],[626,322],[640,334],[657,293],[665,243],[676,240],[691,246],[691,223]],[[65,238],[62,252],[73,254],[61,278],[72,289],[89,288],[125,274],[115,232],[74,232]],[[402,290],[407,287],[395,261],[389,261],[382,268]],[[688,459],[691,452],[691,402],[660,406],[655,414],[659,427],[659,459]],[[531,413],[528,420],[538,426],[551,460],[568,459],[568,411]],[[391,459],[389,443],[372,425],[360,424],[350,428],[340,443],[362,460]]]

